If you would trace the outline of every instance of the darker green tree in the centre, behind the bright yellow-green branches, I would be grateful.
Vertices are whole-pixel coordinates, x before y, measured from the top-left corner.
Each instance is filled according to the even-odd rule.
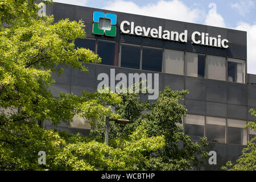
[[[207,152],[203,148],[207,146],[205,138],[201,142],[192,142],[188,135],[181,132],[182,117],[187,111],[179,102],[184,99],[187,90],[180,92],[171,90],[168,86],[164,92],[159,93],[155,103],[147,100],[142,102],[140,94],[121,93],[122,102],[115,106],[115,112],[122,118],[129,118],[127,125],[115,125],[110,122],[110,146],[114,145],[115,138],[127,138],[137,127],[143,123],[148,137],[163,135],[165,145],[161,150],[148,153],[148,170],[185,170],[197,168],[203,159],[207,158]],[[146,112],[144,112],[146,110]],[[105,123],[97,122],[97,130],[91,131],[98,141],[104,140]],[[112,140],[111,140],[112,139]]]

